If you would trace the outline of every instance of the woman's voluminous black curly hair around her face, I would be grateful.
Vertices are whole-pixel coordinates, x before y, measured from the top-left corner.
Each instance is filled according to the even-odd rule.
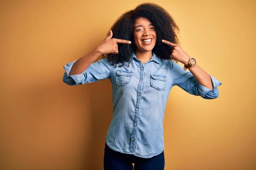
[[[157,40],[152,52],[161,59],[171,59],[178,62],[171,57],[173,47],[163,43],[162,40],[180,45],[177,37],[180,28],[176,25],[172,16],[163,7],[155,3],[142,3],[133,10],[126,11],[116,19],[115,23],[111,26],[112,38],[129,40],[131,44],[119,43],[119,53],[105,54],[102,58],[108,58],[109,62],[115,65],[115,67],[118,63],[122,63],[118,67],[124,66],[124,62],[128,62],[127,67],[129,67],[131,54],[136,48],[133,39],[134,23],[140,17],[148,19],[156,28]]]

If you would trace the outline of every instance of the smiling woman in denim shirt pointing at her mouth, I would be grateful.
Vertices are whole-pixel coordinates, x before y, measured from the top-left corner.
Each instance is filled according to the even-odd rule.
[[[204,99],[218,97],[221,82],[183,51],[177,31],[164,8],[143,3],[122,14],[93,51],[64,65],[68,85],[111,81],[113,117],[105,136],[105,170],[132,170],[132,163],[135,170],[164,169],[163,117],[174,85]]]

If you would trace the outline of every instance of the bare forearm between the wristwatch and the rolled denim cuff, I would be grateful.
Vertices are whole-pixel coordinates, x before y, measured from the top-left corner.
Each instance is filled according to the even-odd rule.
[[[198,65],[195,65],[193,67],[189,67],[189,71],[193,74],[199,84],[211,90],[213,89],[211,77],[202,68],[200,68]]]

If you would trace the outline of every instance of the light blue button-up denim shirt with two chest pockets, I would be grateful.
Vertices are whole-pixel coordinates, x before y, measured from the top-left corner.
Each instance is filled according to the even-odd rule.
[[[221,85],[211,77],[213,90],[200,85],[192,73],[169,59],[155,53],[144,64],[133,53],[131,63],[114,67],[103,58],[93,62],[83,73],[69,76],[74,62],[64,65],[63,82],[82,85],[110,79],[112,84],[113,117],[105,136],[112,150],[142,158],[163,152],[163,118],[169,92],[177,85],[184,91],[204,99],[218,97]]]

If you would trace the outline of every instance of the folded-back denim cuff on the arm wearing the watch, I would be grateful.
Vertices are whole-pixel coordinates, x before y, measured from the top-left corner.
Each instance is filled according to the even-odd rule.
[[[209,76],[211,77],[211,80],[212,80],[213,89],[211,90],[211,89],[197,83],[198,90],[203,98],[215,99],[218,97],[218,88],[217,87],[219,85],[221,85],[221,82],[218,81],[217,79],[215,79],[215,77],[212,77],[211,75],[209,75]]]

